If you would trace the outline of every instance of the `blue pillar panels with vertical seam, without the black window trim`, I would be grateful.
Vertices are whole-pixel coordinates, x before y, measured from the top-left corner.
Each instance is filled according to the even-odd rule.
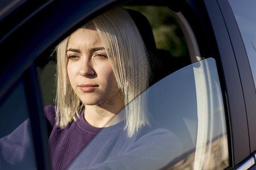
[[[232,163],[243,162],[256,149],[256,94],[245,46],[228,1],[204,0],[218,47],[228,100]]]

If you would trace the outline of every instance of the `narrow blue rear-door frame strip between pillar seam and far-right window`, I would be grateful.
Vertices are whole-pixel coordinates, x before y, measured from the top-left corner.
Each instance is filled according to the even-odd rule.
[[[250,136],[250,152],[256,151],[256,93],[255,84],[253,82],[253,75],[250,69],[249,59],[247,57],[246,49],[243,44],[242,36],[238,28],[236,18],[234,17],[232,8],[228,1],[218,0],[222,15],[225,20],[226,27],[229,32],[230,40],[233,45],[235,57],[237,59],[237,66],[241,76],[241,83],[243,88],[243,95],[245,97],[245,106],[247,113],[248,129]]]

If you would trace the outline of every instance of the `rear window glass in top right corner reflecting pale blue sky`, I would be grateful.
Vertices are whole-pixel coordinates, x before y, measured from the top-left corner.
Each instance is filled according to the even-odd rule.
[[[229,3],[242,35],[243,44],[245,45],[251,72],[253,74],[254,84],[256,84],[256,2],[253,0],[232,0],[229,1]]]

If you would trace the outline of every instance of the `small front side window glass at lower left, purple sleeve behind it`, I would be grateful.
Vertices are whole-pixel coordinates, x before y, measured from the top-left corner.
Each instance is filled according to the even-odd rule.
[[[0,100],[0,169],[35,169],[28,117],[26,92],[19,79]]]

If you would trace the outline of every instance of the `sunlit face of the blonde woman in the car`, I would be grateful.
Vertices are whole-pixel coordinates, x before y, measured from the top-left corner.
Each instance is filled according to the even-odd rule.
[[[68,77],[85,105],[99,105],[113,98],[117,85],[106,50],[95,28],[79,28],[67,45]]]

